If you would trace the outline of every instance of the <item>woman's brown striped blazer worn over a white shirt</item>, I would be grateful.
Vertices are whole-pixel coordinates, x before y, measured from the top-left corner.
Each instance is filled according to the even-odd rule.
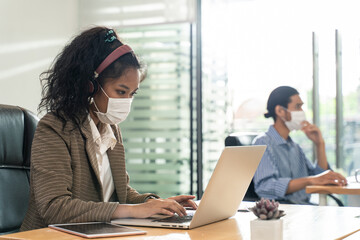
[[[129,186],[120,130],[112,126],[117,144],[108,150],[114,179],[114,202],[103,202],[95,144],[89,122],[76,127],[51,113],[38,124],[32,145],[30,200],[21,231],[55,223],[110,221],[120,203],[141,203],[153,194]],[[156,196],[156,195],[154,195]]]

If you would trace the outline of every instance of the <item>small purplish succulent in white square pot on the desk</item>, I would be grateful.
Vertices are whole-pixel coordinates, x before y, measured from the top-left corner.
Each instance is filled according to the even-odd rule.
[[[250,222],[252,240],[282,240],[283,222],[280,219],[285,215],[279,210],[279,203],[274,200],[261,198],[255,206],[249,208],[258,218]]]

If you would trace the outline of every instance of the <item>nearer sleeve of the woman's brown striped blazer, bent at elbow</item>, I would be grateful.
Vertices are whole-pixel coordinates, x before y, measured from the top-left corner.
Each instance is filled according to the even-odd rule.
[[[46,225],[110,221],[118,203],[85,201],[74,197],[68,137],[59,134],[53,123],[39,122],[31,157],[31,188],[37,212]],[[94,196],[96,193],[93,191],[90,195]]]

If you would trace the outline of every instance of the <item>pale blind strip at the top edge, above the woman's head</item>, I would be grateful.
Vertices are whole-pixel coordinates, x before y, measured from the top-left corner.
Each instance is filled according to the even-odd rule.
[[[195,0],[80,0],[80,25],[144,26],[195,21]]]

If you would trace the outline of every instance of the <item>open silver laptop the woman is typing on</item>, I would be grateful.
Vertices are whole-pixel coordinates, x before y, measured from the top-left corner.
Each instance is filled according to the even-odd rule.
[[[188,216],[121,218],[111,223],[131,226],[192,229],[232,217],[260,163],[266,146],[225,147],[205,189],[198,209]]]

